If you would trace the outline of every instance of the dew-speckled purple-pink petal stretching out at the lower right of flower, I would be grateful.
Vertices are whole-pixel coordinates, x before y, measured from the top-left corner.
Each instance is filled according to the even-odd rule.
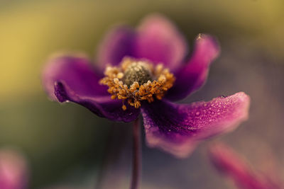
[[[146,140],[150,147],[186,157],[202,139],[234,130],[246,120],[249,102],[249,96],[240,92],[209,102],[145,104],[142,115]]]

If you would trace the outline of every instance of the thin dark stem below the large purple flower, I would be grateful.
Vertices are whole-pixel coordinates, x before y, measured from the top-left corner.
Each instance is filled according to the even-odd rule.
[[[140,148],[140,127],[139,119],[137,118],[133,122],[133,162],[132,162],[132,178],[131,178],[131,189],[138,188],[138,180],[140,175],[141,167],[141,148]]]

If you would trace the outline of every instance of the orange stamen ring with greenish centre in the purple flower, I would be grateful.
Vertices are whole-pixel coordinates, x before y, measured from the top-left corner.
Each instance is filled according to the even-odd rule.
[[[125,102],[139,108],[141,101],[162,99],[175,82],[175,76],[163,64],[154,66],[148,60],[130,57],[125,57],[119,67],[107,67],[104,75],[99,83],[109,86],[112,99],[122,100],[123,110]]]

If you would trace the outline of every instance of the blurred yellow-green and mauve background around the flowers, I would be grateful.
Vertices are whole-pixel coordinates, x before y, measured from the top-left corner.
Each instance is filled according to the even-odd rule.
[[[0,148],[24,154],[30,188],[103,188],[108,183],[127,188],[130,125],[98,118],[80,105],[49,101],[40,73],[50,54],[72,50],[95,57],[112,25],[135,27],[158,12],[191,46],[198,33],[210,33],[222,47],[202,90],[182,102],[248,93],[250,119],[215,140],[234,147],[256,168],[277,169],[283,178],[283,10],[282,0],[1,0]],[[180,160],[149,149],[143,137],[141,188],[234,188],[209,163],[207,144]]]

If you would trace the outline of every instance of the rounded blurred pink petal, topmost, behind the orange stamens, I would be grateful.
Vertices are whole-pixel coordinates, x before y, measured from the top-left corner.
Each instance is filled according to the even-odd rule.
[[[143,20],[137,32],[136,57],[162,62],[173,71],[180,67],[186,53],[185,38],[173,23],[158,14]]]

